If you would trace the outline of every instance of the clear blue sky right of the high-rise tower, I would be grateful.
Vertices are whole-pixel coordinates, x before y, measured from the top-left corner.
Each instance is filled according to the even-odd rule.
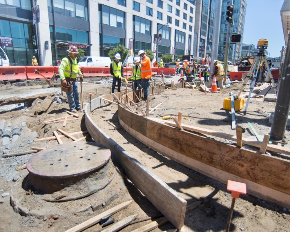
[[[280,10],[284,0],[247,0],[243,35],[244,44],[254,44],[267,39],[269,57],[279,57],[285,46]]]

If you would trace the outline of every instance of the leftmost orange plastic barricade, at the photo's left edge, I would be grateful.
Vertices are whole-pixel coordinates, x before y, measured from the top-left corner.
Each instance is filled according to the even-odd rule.
[[[0,81],[26,80],[25,66],[5,66],[0,68]]]

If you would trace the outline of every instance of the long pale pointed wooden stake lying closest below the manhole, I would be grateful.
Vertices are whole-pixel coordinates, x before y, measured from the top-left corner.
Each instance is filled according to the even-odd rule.
[[[101,218],[103,218],[103,217],[105,217],[107,215],[113,215],[114,213],[117,213],[120,210],[126,208],[132,202],[133,202],[133,200],[123,202],[123,203],[113,207],[112,209],[108,209],[108,210],[104,211],[103,213],[100,213],[99,215],[97,215],[97,216],[95,216],[93,218],[90,218],[89,220],[86,220],[85,222],[82,222],[81,224],[78,224],[78,225],[74,226],[73,228],[70,228],[70,229],[66,230],[65,232],[80,232],[80,231],[83,231],[83,230],[87,229],[88,227],[97,224],[101,220]]]

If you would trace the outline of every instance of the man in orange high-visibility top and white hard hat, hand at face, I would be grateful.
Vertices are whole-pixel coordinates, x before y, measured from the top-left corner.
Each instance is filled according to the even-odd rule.
[[[148,56],[145,55],[146,52],[140,50],[138,52],[138,56],[141,59],[141,78],[142,78],[142,88],[144,92],[143,100],[147,100],[147,96],[149,95],[149,80],[152,77],[151,71],[151,62]]]

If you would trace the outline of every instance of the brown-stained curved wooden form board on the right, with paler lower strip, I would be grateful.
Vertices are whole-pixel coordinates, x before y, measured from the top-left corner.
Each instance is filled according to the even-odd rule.
[[[229,179],[245,182],[249,193],[290,206],[289,161],[206,139],[148,117],[147,122],[139,124],[141,130],[135,130],[127,124],[129,115],[135,116],[131,121],[144,117],[120,106],[118,114],[126,131],[162,155],[224,183]]]

